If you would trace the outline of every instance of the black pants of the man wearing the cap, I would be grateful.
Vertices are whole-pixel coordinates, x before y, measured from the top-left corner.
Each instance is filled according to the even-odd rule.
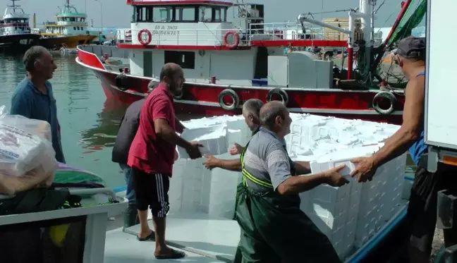
[[[455,166],[439,163],[435,173],[418,167],[408,205],[410,245],[425,253],[432,252],[434,230],[437,224],[437,193],[440,190],[455,188],[457,188]],[[445,241],[450,232],[451,229],[444,230]]]

